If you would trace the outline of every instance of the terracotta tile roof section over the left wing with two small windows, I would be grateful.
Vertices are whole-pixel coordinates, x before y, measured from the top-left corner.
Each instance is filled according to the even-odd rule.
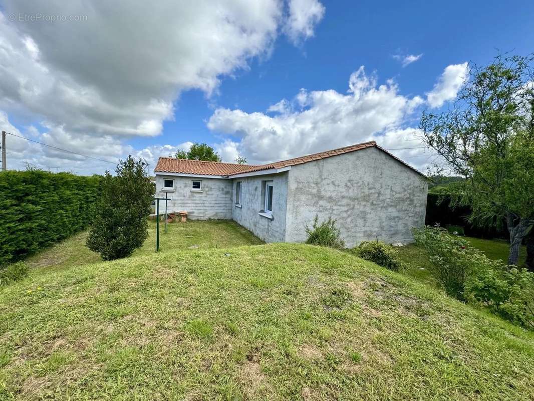
[[[186,160],[174,157],[160,157],[154,172],[199,175],[221,175],[239,173],[254,167],[247,164],[218,163],[217,161]]]

